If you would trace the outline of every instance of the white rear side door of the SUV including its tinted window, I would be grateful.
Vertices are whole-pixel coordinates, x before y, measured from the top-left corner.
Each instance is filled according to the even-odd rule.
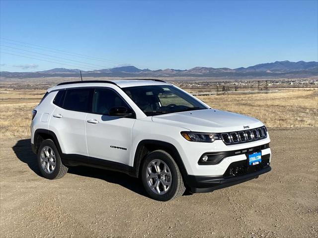
[[[87,162],[85,118],[91,112],[92,88],[73,88],[59,91],[53,103],[57,105],[50,120],[65,154],[82,155]]]

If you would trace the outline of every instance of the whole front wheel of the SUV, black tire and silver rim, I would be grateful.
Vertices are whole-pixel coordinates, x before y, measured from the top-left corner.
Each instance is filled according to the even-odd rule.
[[[168,201],[185,191],[177,164],[163,150],[153,151],[145,158],[141,176],[147,193],[156,200]]]

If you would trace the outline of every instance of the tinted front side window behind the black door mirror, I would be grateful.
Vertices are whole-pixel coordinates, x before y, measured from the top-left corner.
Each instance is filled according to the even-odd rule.
[[[108,115],[111,108],[120,106],[130,109],[125,101],[113,90],[105,88],[95,89],[93,113]]]

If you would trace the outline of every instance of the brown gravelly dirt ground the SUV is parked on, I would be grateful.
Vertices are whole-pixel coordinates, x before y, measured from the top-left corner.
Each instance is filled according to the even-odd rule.
[[[270,136],[270,173],[166,203],[120,173],[43,179],[29,139],[1,140],[1,237],[318,237],[318,128]]]

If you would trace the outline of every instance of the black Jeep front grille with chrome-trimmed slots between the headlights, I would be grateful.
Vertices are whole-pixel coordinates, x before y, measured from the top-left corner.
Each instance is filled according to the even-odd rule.
[[[226,145],[240,144],[267,138],[267,129],[262,126],[251,130],[221,133],[220,136]]]

